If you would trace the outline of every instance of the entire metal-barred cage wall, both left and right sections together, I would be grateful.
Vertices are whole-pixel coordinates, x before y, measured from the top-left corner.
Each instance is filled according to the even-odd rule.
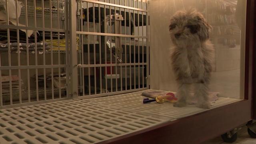
[[[24,52],[17,49],[17,62],[14,61],[9,48],[6,53],[0,52],[1,58],[5,54],[8,58],[8,64],[1,63],[0,67],[0,108],[146,89],[144,78],[140,78],[144,76],[144,66],[147,67],[148,74],[148,60],[141,61],[140,54],[142,47],[142,59],[144,54],[148,57],[148,51],[144,52],[144,42],[140,42],[146,40],[148,46],[148,36],[143,35],[143,30],[141,34],[140,30],[141,24],[143,27],[144,22],[148,20],[148,17],[146,20],[144,18],[148,10],[144,8],[143,2],[136,3],[136,6],[135,1],[131,4],[131,1],[127,0],[124,0],[124,3],[122,0],[114,0],[113,4],[106,0],[25,0],[20,15],[24,20],[20,19],[16,9],[14,25],[10,24],[9,20],[8,0],[5,2],[7,22],[0,26],[7,31],[7,46],[12,44],[11,30],[16,30],[18,43],[22,42],[20,32],[23,30],[26,33],[26,50]],[[15,0],[16,7],[18,4],[18,0]],[[80,4],[80,8],[77,4]],[[117,14],[122,18],[118,19]],[[30,17],[33,18],[32,21],[28,20]],[[80,22],[74,23],[76,20]],[[23,21],[24,25],[20,25]],[[76,29],[76,24],[80,28]],[[87,28],[84,27],[86,24]],[[34,36],[33,54],[29,50],[30,31]],[[138,34],[135,31],[138,31]],[[81,44],[80,49],[77,49],[77,36]],[[109,46],[106,40],[109,40]],[[42,46],[39,46],[40,41]],[[118,54],[116,48],[120,48],[122,52]],[[79,60],[78,54],[81,54]],[[117,58],[120,58],[121,62]],[[80,76],[77,75],[78,69],[81,71]],[[7,101],[4,100],[6,94],[3,93],[4,73],[10,80]],[[13,87],[16,83],[12,81],[15,74],[18,78],[18,93]],[[66,77],[65,84],[62,82],[63,76]],[[143,86],[140,86],[141,83]],[[59,87],[56,87],[56,84]],[[23,85],[26,87],[23,88]],[[78,88],[82,88],[82,91],[78,91]]]

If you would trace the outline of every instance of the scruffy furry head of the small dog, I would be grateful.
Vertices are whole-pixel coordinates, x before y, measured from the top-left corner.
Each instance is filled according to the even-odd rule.
[[[200,12],[182,10],[172,16],[169,31],[172,42],[178,45],[198,40],[205,42],[209,39],[210,28]]]

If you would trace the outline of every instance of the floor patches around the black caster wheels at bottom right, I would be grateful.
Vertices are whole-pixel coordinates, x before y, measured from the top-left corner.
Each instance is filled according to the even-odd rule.
[[[204,142],[203,144],[230,144],[222,141],[222,138],[218,136],[217,138],[214,138],[212,140],[208,140],[207,142]],[[232,144],[256,144],[256,139],[250,138],[247,127],[244,126],[242,130],[238,131],[238,138],[236,142],[233,142]]]

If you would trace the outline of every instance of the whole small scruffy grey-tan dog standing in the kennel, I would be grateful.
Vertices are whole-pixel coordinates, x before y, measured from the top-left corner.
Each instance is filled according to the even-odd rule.
[[[169,30],[174,44],[171,59],[178,82],[176,107],[186,106],[191,84],[194,84],[197,106],[211,106],[208,98],[213,60],[213,46],[208,40],[211,28],[204,16],[194,9],[178,11],[170,20]]]

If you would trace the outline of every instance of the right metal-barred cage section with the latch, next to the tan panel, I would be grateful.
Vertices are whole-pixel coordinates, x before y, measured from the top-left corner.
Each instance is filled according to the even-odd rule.
[[[149,37],[144,35],[143,28],[148,24],[148,16],[146,16],[148,10],[146,7],[144,8],[143,2],[135,3],[135,1],[124,0],[123,4],[122,0],[112,2],[80,0],[77,1],[77,4],[81,5],[80,14],[83,14],[84,17],[78,16],[80,22],[77,23],[81,24],[81,28],[77,29],[76,34],[87,37],[86,41],[81,40],[80,42],[82,46],[86,46],[86,52],[88,52],[88,54],[85,51],[81,53],[82,57],[86,58],[87,56],[88,62],[84,63],[83,60],[77,62],[79,68],[88,70],[87,73],[82,72],[84,74],[82,78],[79,77],[79,81],[84,80],[85,86],[82,86],[83,92],[78,98],[92,98],[125,93],[129,90],[147,89],[148,86],[144,87],[144,79],[149,74],[149,63],[148,60],[144,61],[144,57],[148,57],[146,56],[148,51],[144,51],[144,46],[148,43]],[[122,16],[120,21],[118,16]],[[83,30],[86,24],[87,30]],[[146,28],[148,27],[146,26]],[[117,59],[119,56],[116,53],[118,44],[123,51],[119,58],[125,59],[122,60],[122,63],[119,63]],[[147,71],[145,78],[144,71]],[[141,78],[142,76],[143,78]]]

